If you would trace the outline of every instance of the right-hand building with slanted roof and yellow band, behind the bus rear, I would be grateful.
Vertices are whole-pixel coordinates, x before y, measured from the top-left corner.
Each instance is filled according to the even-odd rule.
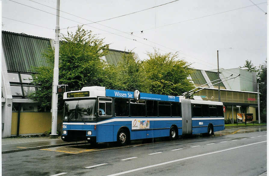
[[[256,120],[258,94],[256,92],[257,78],[255,72],[249,72],[246,68],[220,69],[220,76],[218,76],[216,70],[193,70],[188,79],[193,82],[195,87],[206,84],[202,88],[207,88],[194,95],[201,96],[203,100],[218,101],[218,84],[215,84],[218,81],[210,82],[217,79],[226,80],[224,78],[231,74],[233,74],[231,77],[236,77],[239,74],[240,76],[220,83],[220,99],[226,107],[225,119],[236,123],[237,113],[252,113],[253,120]]]

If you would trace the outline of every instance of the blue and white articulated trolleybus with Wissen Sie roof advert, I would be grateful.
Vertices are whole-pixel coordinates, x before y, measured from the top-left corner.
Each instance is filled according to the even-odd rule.
[[[63,141],[118,142],[224,129],[222,102],[83,87],[63,94]]]

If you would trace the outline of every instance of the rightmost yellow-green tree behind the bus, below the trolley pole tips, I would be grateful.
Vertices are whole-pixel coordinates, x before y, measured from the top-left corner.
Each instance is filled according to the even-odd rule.
[[[150,81],[151,93],[178,96],[193,89],[193,84],[187,80],[191,73],[190,64],[178,59],[178,54],[160,54],[158,51],[147,53],[144,70]]]

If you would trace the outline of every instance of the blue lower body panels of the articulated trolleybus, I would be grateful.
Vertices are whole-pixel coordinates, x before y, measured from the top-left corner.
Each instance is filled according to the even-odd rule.
[[[134,128],[132,129],[132,122],[136,119],[138,122],[149,121],[149,126],[146,126],[143,129]],[[154,119],[157,119],[156,117]],[[164,120],[163,120],[164,119]],[[133,120],[133,121],[132,121]],[[192,118],[192,134],[206,133],[208,130],[209,124],[213,125],[213,131],[220,131],[224,129],[224,120],[223,119],[210,119],[203,120],[201,117],[197,120]],[[96,125],[96,129],[94,126]],[[64,124],[63,130],[67,130],[66,137],[72,136],[76,138],[75,134],[70,136],[71,131],[81,131],[79,138],[96,138],[96,142],[113,142],[117,141],[117,135],[120,128],[125,128],[130,133],[130,139],[144,139],[144,138],[157,138],[169,136],[170,127],[178,127],[178,135],[182,135],[182,120],[165,120],[165,117],[158,118],[157,120],[150,120],[150,118],[111,118],[109,120],[101,121],[98,123],[92,124]],[[92,135],[87,135],[87,131],[91,131]],[[72,133],[72,132],[71,132]],[[64,135],[63,135],[64,136]]]

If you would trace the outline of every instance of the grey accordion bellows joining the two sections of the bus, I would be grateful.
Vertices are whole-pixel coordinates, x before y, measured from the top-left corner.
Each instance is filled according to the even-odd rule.
[[[182,110],[182,135],[192,134],[191,102],[188,99],[181,100]]]

